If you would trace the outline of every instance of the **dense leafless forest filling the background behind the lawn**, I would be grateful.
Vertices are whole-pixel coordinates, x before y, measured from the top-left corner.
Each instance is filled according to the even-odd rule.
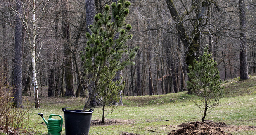
[[[40,97],[46,86],[48,96],[86,96],[81,52],[87,28],[94,15],[112,2],[116,0],[0,0],[0,59],[8,82],[18,84],[14,81],[20,76],[16,91],[23,95],[33,96],[36,89]],[[130,2],[126,22],[133,27],[133,39],[127,45],[140,49],[135,64],[118,73],[125,81],[124,95],[187,91],[187,65],[206,44],[223,81],[246,71],[247,78],[256,73],[255,0]],[[246,54],[245,59],[241,54]],[[21,66],[18,72],[17,66]]]

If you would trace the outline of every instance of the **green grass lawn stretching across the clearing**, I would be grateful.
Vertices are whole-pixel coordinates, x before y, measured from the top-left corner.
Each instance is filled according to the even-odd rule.
[[[225,122],[227,125],[256,126],[256,77],[246,81],[238,79],[226,81],[225,97],[215,110],[206,115],[206,120]],[[33,97],[28,97],[33,101]],[[31,129],[37,135],[46,135],[47,127],[37,113],[59,114],[64,118],[62,107],[81,110],[84,98],[40,98],[41,109],[31,109],[29,120]],[[171,100],[171,101],[170,101]],[[123,98],[124,106],[119,106],[106,119],[119,120],[116,125],[90,127],[90,135],[120,135],[132,132],[141,135],[166,135],[182,122],[201,120],[199,108],[192,102],[187,92],[156,96],[130,96]],[[92,120],[101,119],[101,108],[94,108]],[[109,109],[108,109],[109,110]],[[36,127],[34,126],[37,123]],[[227,131],[226,131],[227,132]],[[254,135],[256,131],[228,131],[234,135]],[[65,134],[65,127],[61,134]]]

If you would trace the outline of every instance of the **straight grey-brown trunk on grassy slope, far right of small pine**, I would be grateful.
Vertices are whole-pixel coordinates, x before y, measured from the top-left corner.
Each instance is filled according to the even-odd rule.
[[[240,79],[249,79],[248,68],[247,68],[247,51],[246,51],[246,11],[245,11],[244,0],[239,0],[239,17],[240,17]]]

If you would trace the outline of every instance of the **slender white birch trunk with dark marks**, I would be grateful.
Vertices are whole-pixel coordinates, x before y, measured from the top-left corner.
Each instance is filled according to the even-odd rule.
[[[40,108],[38,100],[38,85],[36,79],[36,59],[35,59],[35,46],[36,46],[36,18],[35,18],[36,6],[35,0],[33,0],[33,13],[32,13],[32,22],[33,22],[33,40],[31,46],[31,57],[32,57],[32,74],[33,74],[33,83],[34,83],[34,98],[35,98],[35,108]]]

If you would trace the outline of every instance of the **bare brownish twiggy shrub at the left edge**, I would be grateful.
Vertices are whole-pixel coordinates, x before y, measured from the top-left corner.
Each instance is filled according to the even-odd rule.
[[[6,74],[5,67],[0,65],[0,130],[9,134],[19,134],[28,128],[29,108],[13,107],[14,92],[7,82]]]

